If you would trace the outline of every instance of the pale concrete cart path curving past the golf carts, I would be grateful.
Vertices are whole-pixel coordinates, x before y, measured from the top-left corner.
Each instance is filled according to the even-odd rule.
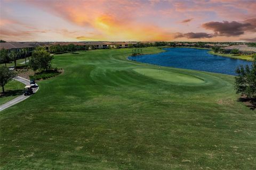
[[[27,86],[27,85],[30,85],[30,81],[29,81],[28,79],[25,79],[25,78],[22,78],[22,77],[19,77],[19,76],[16,77],[16,78],[14,78],[14,80],[17,80],[17,81],[19,81],[19,82],[25,84],[26,86]],[[38,89],[39,89],[38,86],[37,86],[37,88],[33,88],[33,92],[35,93]],[[13,105],[15,105],[15,104],[17,104],[17,103],[20,103],[20,101],[23,101],[23,100],[25,100],[25,99],[27,99],[27,98],[29,98],[29,97],[30,97],[30,96],[24,96],[24,95],[22,94],[22,95],[20,95],[20,96],[14,98],[14,99],[8,101],[7,103],[1,105],[1,106],[0,106],[0,111],[3,111],[4,109],[6,109],[6,108],[8,108],[8,107],[11,107],[11,106],[13,106]]]

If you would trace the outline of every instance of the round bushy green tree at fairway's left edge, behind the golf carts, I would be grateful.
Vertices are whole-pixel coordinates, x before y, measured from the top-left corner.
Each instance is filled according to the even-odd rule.
[[[29,64],[33,70],[50,70],[51,61],[53,60],[53,55],[50,55],[43,48],[36,48],[31,56]]]

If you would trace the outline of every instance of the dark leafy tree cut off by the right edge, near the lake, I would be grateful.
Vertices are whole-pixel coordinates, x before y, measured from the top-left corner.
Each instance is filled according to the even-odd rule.
[[[235,77],[235,90],[237,94],[246,95],[249,98],[256,98],[256,55],[253,55],[251,67],[241,65],[237,68]]]

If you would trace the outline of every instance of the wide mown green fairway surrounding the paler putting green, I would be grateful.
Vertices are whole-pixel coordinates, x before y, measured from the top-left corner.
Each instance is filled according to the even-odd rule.
[[[256,167],[256,114],[237,102],[234,77],[161,67],[166,81],[154,76],[159,66],[126,60],[131,54],[111,49],[54,55],[53,67],[64,72],[38,82],[35,95],[0,112],[1,168]],[[205,83],[173,83],[180,75]]]

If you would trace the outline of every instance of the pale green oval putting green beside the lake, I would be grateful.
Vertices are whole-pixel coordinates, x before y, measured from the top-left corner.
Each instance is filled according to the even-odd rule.
[[[169,81],[179,85],[197,85],[197,84],[205,83],[203,79],[199,79],[197,77],[194,77],[188,74],[178,73],[178,72],[156,70],[156,69],[133,69],[133,70],[137,73],[146,75],[147,77],[150,77],[150,78]]]

